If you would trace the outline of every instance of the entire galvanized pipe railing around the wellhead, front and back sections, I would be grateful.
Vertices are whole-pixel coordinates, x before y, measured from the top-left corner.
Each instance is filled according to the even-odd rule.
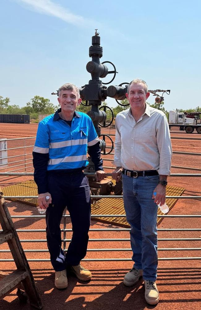
[[[110,136],[115,136],[113,134],[110,134]],[[19,165],[15,165],[15,166],[11,166],[10,168],[17,168],[17,167],[21,167],[21,168],[17,168],[15,170],[11,170],[9,172],[2,172],[4,170],[4,168],[1,168],[0,165],[0,176],[32,176],[33,173],[30,172],[33,170],[33,166],[27,166],[29,163],[29,160],[32,160],[32,157],[27,159],[26,157],[28,155],[32,155],[32,153],[26,153],[26,148],[32,148],[33,145],[28,145],[26,146],[26,139],[35,139],[35,137],[29,137],[29,138],[16,138],[16,139],[6,139],[6,141],[12,141],[12,140],[23,140],[24,139],[24,146],[21,147],[16,147],[16,148],[12,148],[9,147],[6,150],[11,152],[14,150],[23,150],[24,148],[24,153],[23,154],[18,154],[18,155],[12,155],[12,156],[7,156],[4,158],[7,159],[11,159],[13,158],[14,161],[13,162],[9,162],[9,164],[18,164]],[[171,137],[171,139],[187,139],[187,140],[201,140],[201,138],[187,138],[187,137]],[[109,147],[106,147],[109,148]],[[5,150],[5,149],[3,149]],[[2,151],[2,150],[0,150]],[[195,155],[195,156],[200,156],[201,153],[190,153],[190,152],[176,152],[173,151],[173,154],[183,154],[183,155]],[[114,153],[110,153],[110,155],[114,155]],[[20,159],[20,160],[15,160],[16,157],[23,157],[24,159]],[[112,159],[110,158],[103,158],[105,161],[112,161]],[[25,164],[23,164],[22,162],[25,162]],[[22,164],[21,164],[22,163]],[[24,167],[23,167],[24,165]],[[2,164],[3,166],[3,164]],[[30,170],[27,170],[29,169]],[[105,167],[107,169],[115,169],[113,167]],[[193,167],[181,167],[181,166],[172,166],[172,168],[180,168],[180,169],[188,169],[188,170],[201,170],[199,168],[193,168]],[[19,170],[24,169],[24,172],[16,172]],[[86,174],[86,175],[92,175],[92,174]],[[107,174],[107,176],[111,176],[111,174]],[[172,177],[200,177],[201,174],[171,174]],[[122,196],[92,196],[92,198],[119,198],[122,199]],[[10,198],[37,198],[37,196],[6,196],[5,199],[10,199]],[[201,199],[201,196],[166,196],[166,198],[175,198],[175,199]],[[70,242],[71,239],[66,239],[66,232],[72,232],[72,229],[66,229],[66,219],[68,219],[70,217],[70,215],[64,214],[63,215],[63,220],[64,220],[64,224],[63,224],[63,228],[61,229],[61,232],[63,233],[63,238],[62,238],[62,242],[64,245],[64,251],[66,252],[66,242]],[[126,215],[92,215],[93,217],[126,217]],[[158,215],[159,218],[200,218],[201,215]],[[38,218],[38,219],[43,219],[45,218],[45,215],[17,215],[17,216],[12,216],[13,219],[26,219],[26,218]],[[91,228],[89,230],[89,232],[129,232],[129,228]],[[158,232],[179,232],[179,231],[184,231],[184,232],[198,232],[201,231],[201,229],[199,228],[159,228]],[[17,232],[21,233],[21,232],[45,232],[45,229],[17,229]],[[200,241],[201,238],[158,238],[158,241]],[[129,242],[130,238],[96,238],[96,239],[89,239],[90,242],[109,242],[109,241],[125,241],[125,242]],[[27,242],[46,242],[46,239],[21,239],[21,242],[27,243]],[[172,247],[172,248],[158,248],[158,251],[192,251],[192,250],[196,250],[199,251],[201,250],[201,248],[199,247],[195,247],[195,248],[187,248],[187,247]],[[10,250],[0,250],[0,253],[8,253]],[[35,249],[35,250],[24,250],[25,252],[48,252],[48,249]],[[114,252],[114,251],[121,251],[121,252],[128,252],[131,251],[130,248],[101,248],[101,249],[88,249],[88,252]],[[201,259],[201,257],[166,257],[166,258],[159,258],[159,260],[192,260],[192,259]],[[83,259],[85,261],[127,261],[127,260],[131,260],[130,258],[104,258],[104,259]],[[0,259],[0,261],[13,261],[12,259]],[[49,259],[28,259],[28,261],[50,261]]]

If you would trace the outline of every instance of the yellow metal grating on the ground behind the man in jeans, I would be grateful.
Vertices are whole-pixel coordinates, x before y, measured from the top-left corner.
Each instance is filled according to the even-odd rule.
[[[175,187],[175,186],[167,186],[166,188],[166,196],[181,196],[184,192],[185,188]],[[169,198],[166,199],[166,204],[169,207],[169,210],[175,205],[178,199]],[[118,214],[118,215],[125,215],[123,199],[119,198],[102,198],[96,202],[96,205],[92,205],[92,214]],[[163,213],[158,210],[158,215],[163,215]],[[103,223],[113,224],[116,226],[122,226],[126,228],[130,228],[130,225],[126,221],[124,217],[97,217],[92,218],[96,219]],[[157,225],[163,218],[157,218]]]

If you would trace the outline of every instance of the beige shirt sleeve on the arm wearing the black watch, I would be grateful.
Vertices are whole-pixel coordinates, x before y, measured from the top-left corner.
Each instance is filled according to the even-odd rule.
[[[172,145],[167,117],[164,115],[157,123],[156,140],[160,154],[159,175],[170,175]]]

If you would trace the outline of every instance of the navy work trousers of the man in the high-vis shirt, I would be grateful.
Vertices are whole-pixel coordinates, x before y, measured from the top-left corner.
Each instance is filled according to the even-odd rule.
[[[55,271],[76,266],[87,252],[91,218],[90,188],[83,172],[48,175],[48,190],[52,203],[46,210],[46,235],[50,259]],[[73,235],[66,255],[62,250],[61,220],[67,207]]]

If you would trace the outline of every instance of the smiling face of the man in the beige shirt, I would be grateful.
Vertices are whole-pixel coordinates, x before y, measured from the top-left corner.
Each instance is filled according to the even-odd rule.
[[[131,84],[129,87],[129,94],[126,93],[131,108],[134,110],[140,110],[145,108],[146,99],[150,93],[145,93],[143,84]]]

